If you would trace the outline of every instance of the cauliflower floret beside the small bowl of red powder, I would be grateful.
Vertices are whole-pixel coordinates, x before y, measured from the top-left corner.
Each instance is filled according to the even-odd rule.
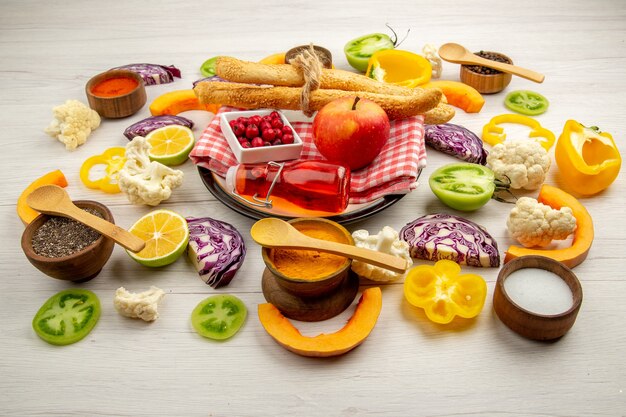
[[[100,126],[100,115],[78,100],[67,100],[52,109],[54,120],[45,132],[73,151],[87,141],[92,130]]]

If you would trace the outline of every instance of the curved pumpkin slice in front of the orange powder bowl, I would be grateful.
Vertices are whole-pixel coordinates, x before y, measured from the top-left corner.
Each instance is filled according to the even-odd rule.
[[[363,291],[356,311],[341,330],[332,334],[322,333],[315,337],[300,334],[300,331],[270,303],[259,304],[259,320],[269,335],[287,350],[302,356],[338,356],[363,343],[376,325],[382,305],[380,288],[368,288]]]

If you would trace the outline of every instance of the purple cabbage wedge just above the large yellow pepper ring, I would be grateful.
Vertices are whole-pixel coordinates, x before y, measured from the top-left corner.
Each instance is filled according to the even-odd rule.
[[[400,230],[400,239],[409,244],[413,258],[449,259],[468,266],[500,266],[498,244],[487,230],[452,214],[422,216]]]

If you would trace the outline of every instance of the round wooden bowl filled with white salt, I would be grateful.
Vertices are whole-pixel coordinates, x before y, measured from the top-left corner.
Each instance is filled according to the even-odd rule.
[[[535,312],[538,311],[536,300],[541,296],[552,297],[542,302],[544,304],[543,308],[546,306],[554,308],[555,305],[562,304],[555,298],[556,294],[561,291],[555,291],[553,287],[550,289],[547,287],[536,287],[541,285],[542,282],[546,282],[545,279],[539,276],[533,277],[534,279],[526,281],[524,286],[518,287],[516,290],[518,294],[512,294],[510,292],[511,288],[507,292],[506,280],[513,272],[532,268],[549,271],[563,280],[566,284],[566,287],[564,287],[565,291],[569,288],[571,292],[571,304],[568,303],[569,307],[563,307],[557,313],[542,314]],[[530,288],[530,285],[535,285],[535,288]],[[520,289],[525,291],[525,293],[520,293]],[[520,301],[521,299],[526,301]],[[493,295],[493,308],[500,320],[516,333],[534,340],[553,340],[563,336],[574,325],[582,299],[582,287],[571,269],[561,262],[544,256],[521,256],[513,259],[500,270]],[[517,302],[514,300],[517,300]],[[546,303],[551,303],[551,305]],[[531,307],[530,304],[535,305]]]

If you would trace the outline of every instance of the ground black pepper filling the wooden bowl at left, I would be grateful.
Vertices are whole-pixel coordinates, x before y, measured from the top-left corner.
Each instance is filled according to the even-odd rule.
[[[103,218],[99,211],[84,208],[87,213]],[[79,252],[98,240],[100,233],[66,217],[52,216],[33,233],[33,250],[47,258],[61,258]]]

